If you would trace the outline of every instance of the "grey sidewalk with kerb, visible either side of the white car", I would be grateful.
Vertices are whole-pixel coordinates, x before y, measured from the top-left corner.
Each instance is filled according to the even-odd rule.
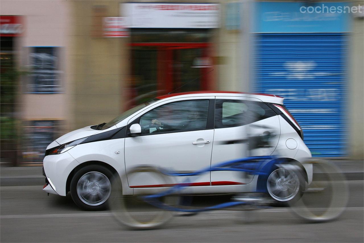
[[[348,180],[364,179],[363,160],[331,160],[345,174]],[[0,168],[1,186],[44,185],[42,166],[3,167]]]

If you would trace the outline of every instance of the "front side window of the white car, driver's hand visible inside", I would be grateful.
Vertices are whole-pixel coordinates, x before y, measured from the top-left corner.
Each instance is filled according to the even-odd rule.
[[[178,101],[159,106],[139,121],[143,134],[206,129],[209,100]]]

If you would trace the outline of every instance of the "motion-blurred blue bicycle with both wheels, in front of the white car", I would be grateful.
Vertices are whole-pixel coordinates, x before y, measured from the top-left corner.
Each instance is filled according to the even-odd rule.
[[[348,187],[347,184],[345,183],[345,176],[340,172],[340,170],[336,166],[325,161],[310,160],[310,161],[305,161],[304,163],[314,165],[315,168],[317,169],[317,172],[323,173],[326,179],[322,181],[320,177],[317,177],[316,180],[313,180],[310,184],[306,184],[306,186],[304,187],[305,189],[304,192],[309,192],[309,193],[304,193],[303,195],[300,195],[299,199],[292,202],[288,202],[289,203],[288,205],[292,207],[292,211],[297,216],[300,216],[302,219],[309,222],[325,222],[336,219],[344,211],[348,201]],[[259,188],[258,186],[260,183],[259,181],[261,181],[262,183],[267,183],[267,181],[269,180],[269,176],[272,175],[272,169],[278,170],[274,167],[279,167],[278,169],[284,167],[291,170],[297,169],[297,171],[300,172],[299,166],[297,167],[295,165],[289,164],[289,161],[287,161],[284,158],[277,158],[274,156],[254,156],[254,157],[246,157],[237,160],[223,162],[215,166],[211,166],[209,168],[195,171],[193,173],[178,173],[174,171],[167,171],[164,169],[160,170],[154,168],[153,166],[138,166],[137,168],[135,168],[135,173],[160,172],[162,173],[162,175],[173,177],[173,176],[198,176],[210,171],[246,172],[253,175],[262,176],[258,177],[257,189],[254,192],[265,192],[261,191],[261,189]],[[131,213],[128,211],[128,206],[124,201],[123,195],[121,195],[122,200],[120,200],[118,203],[118,201],[116,200],[119,200],[118,195],[120,194],[115,193],[115,200],[113,202],[115,202],[116,210],[113,213],[113,215],[120,223],[124,224],[127,227],[146,229],[146,228],[155,228],[166,223],[173,216],[172,213],[168,211],[185,212],[185,213],[190,213],[187,215],[193,215],[199,212],[224,209],[227,207],[233,207],[238,205],[245,205],[247,208],[242,207],[236,210],[253,210],[253,209],[270,208],[272,205],[274,206],[275,203],[275,200],[270,199],[269,196],[267,197],[259,196],[251,198],[249,197],[249,195],[247,197],[236,196],[233,197],[232,201],[227,201],[224,203],[219,203],[210,207],[203,207],[203,208],[180,207],[183,204],[169,205],[167,203],[162,202],[162,201],[169,201],[168,197],[166,198],[166,200],[159,200],[161,197],[164,196],[169,196],[172,194],[175,195],[176,193],[178,195],[178,192],[182,191],[186,187],[189,187],[192,183],[193,182],[190,181],[190,178],[187,178],[186,180],[182,181],[182,183],[179,184],[166,184],[166,186],[167,185],[173,185],[173,186],[170,188],[166,188],[165,191],[161,193],[156,193],[154,195],[147,195],[147,196],[137,196],[137,200],[141,199],[147,204],[163,209],[162,211],[160,210],[154,211],[154,214],[152,213],[153,219],[151,220],[150,219],[139,220],[137,217],[134,217],[133,215],[134,211],[131,211]],[[330,188],[329,195],[326,194],[322,195],[321,193],[318,195],[313,195],[311,193],[317,191],[317,189],[319,189],[318,192],[321,192],[323,190],[322,188],[323,186],[324,188],[325,187]],[[120,193],[121,191],[116,189],[116,192]],[[305,195],[307,195],[307,197],[303,199],[302,197],[304,197]],[[318,203],[323,201],[324,204],[319,208],[317,208],[316,206],[321,204],[314,203],[313,205],[311,205],[310,203],[312,202],[312,200],[316,200]],[[114,203],[111,205],[114,205]],[[139,211],[138,205],[139,204],[134,205],[137,211]],[[324,208],[325,210],[323,210],[321,207]],[[317,211],[317,209],[319,209],[319,211]]]

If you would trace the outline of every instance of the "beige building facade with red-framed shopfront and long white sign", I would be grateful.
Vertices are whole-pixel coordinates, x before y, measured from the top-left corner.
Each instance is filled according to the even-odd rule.
[[[70,1],[74,128],[173,90],[237,89],[239,30],[222,3]],[[128,19],[123,38],[105,38],[107,17]]]

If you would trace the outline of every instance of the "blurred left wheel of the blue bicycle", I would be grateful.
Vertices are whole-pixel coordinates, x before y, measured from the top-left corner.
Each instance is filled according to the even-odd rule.
[[[132,169],[127,175],[128,181],[140,180],[142,177],[153,177],[158,180],[159,185],[167,187],[171,185],[168,176],[163,175],[158,169],[151,166],[143,166]],[[112,187],[112,197],[110,200],[110,209],[115,219],[132,229],[151,229],[162,226],[173,216],[172,212],[157,208],[142,199],[147,194],[140,195],[123,195],[121,183],[115,183]],[[162,203],[173,203],[173,196],[165,196],[158,200]]]

